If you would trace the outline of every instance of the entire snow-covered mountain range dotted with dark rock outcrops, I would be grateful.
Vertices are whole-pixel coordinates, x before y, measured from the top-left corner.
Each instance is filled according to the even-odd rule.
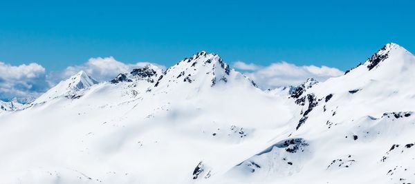
[[[412,183],[414,76],[394,43],[265,92],[206,52],[105,83],[81,73],[0,113],[0,182]]]

